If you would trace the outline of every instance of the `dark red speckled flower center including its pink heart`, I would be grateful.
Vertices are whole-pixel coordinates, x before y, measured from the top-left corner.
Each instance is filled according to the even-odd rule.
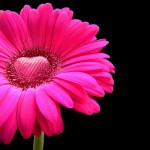
[[[32,49],[14,56],[4,68],[10,84],[28,89],[50,82],[60,69],[60,59],[54,54]]]

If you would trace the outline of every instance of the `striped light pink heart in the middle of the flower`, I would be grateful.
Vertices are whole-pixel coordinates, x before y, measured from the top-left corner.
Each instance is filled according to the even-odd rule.
[[[21,57],[16,59],[14,67],[21,78],[36,80],[36,78],[43,78],[45,72],[50,70],[50,63],[43,56]]]

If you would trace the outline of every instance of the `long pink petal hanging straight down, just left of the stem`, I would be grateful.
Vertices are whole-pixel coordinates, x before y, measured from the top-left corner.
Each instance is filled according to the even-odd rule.
[[[17,109],[18,127],[22,136],[28,139],[34,128],[36,119],[35,89],[29,88],[22,92]]]

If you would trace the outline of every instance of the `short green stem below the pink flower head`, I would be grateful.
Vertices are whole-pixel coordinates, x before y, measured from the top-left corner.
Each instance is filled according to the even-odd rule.
[[[33,150],[43,150],[44,148],[44,133],[42,132],[40,136],[34,135]]]

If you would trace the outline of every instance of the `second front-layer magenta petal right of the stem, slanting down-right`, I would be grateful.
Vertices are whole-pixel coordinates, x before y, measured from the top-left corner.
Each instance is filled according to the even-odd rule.
[[[54,101],[67,108],[73,107],[72,99],[57,83],[44,84],[43,87],[49,97]]]

